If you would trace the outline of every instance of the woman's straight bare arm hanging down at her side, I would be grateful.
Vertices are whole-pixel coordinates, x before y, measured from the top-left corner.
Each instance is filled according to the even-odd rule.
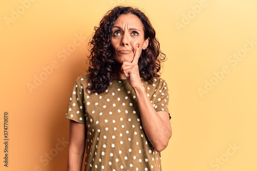
[[[69,121],[67,171],[81,171],[85,153],[86,125]]]

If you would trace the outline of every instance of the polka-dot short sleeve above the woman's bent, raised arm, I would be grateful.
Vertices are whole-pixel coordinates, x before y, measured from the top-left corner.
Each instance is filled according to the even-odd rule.
[[[170,112],[169,112],[169,89],[167,86],[166,81],[164,81],[163,79],[159,79],[159,84],[158,84],[158,99],[156,102],[156,111],[167,111],[169,113],[169,117],[171,119],[170,116]]]

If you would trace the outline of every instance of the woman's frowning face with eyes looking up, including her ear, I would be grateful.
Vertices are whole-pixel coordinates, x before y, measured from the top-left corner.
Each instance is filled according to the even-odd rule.
[[[139,54],[148,46],[149,38],[144,40],[143,24],[134,14],[121,14],[114,21],[111,45],[114,59],[118,63],[132,62],[136,46]]]

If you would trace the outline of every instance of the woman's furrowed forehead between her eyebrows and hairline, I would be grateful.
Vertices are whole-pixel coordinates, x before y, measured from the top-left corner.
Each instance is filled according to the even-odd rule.
[[[134,14],[121,14],[114,21],[114,26],[142,29],[143,24]]]

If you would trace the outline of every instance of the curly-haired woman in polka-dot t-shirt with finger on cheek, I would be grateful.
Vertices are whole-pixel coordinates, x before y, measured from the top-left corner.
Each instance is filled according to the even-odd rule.
[[[161,170],[160,151],[172,135],[167,84],[159,78],[165,55],[148,17],[116,7],[90,41],[88,74],[76,80],[67,170]]]

